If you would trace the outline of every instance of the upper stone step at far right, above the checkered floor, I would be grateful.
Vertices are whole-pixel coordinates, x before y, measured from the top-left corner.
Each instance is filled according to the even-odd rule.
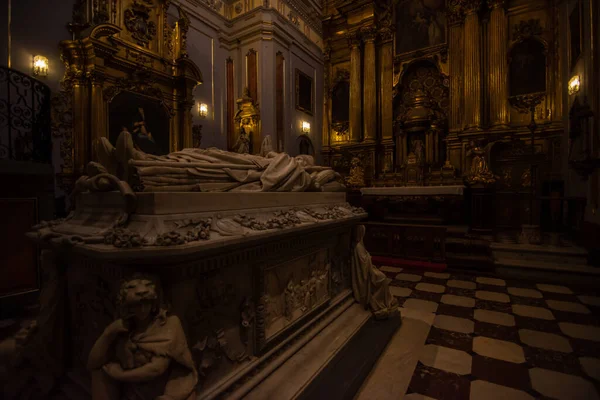
[[[494,254],[494,259],[508,258],[554,264],[585,265],[588,258],[588,252],[578,247],[492,243],[490,249]]]

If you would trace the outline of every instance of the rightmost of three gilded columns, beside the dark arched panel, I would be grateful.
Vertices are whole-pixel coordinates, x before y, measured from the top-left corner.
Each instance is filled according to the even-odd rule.
[[[490,99],[490,126],[508,127],[508,74],[506,54],[508,48],[505,0],[488,0],[491,8],[488,54],[490,72],[488,88]]]

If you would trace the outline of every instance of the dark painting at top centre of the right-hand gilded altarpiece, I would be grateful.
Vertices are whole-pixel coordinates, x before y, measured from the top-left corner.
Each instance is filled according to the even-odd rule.
[[[396,55],[446,44],[446,0],[399,0],[394,14]]]

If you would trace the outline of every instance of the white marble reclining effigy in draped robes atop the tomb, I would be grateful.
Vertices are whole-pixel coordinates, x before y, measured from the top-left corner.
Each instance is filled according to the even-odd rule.
[[[116,148],[100,138],[96,153],[108,171],[122,171],[122,180],[129,180],[136,172],[139,186],[147,192],[345,190],[340,175],[332,168],[316,166],[310,155],[290,157],[271,151],[262,157],[190,148],[155,156],[136,149],[128,132],[121,133]]]

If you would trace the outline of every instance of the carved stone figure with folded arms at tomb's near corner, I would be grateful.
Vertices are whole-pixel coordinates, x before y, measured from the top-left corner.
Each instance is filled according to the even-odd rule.
[[[118,318],[88,358],[92,398],[195,398],[198,376],[179,318],[167,315],[159,282],[134,275],[117,298]]]

